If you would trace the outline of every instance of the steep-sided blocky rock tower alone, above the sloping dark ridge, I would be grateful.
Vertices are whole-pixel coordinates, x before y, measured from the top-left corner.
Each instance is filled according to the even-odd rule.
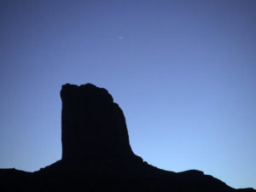
[[[131,156],[125,117],[108,90],[93,84],[61,89],[62,160]]]

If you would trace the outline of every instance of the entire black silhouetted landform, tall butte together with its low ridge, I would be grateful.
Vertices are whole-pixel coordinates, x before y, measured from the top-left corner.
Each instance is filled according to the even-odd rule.
[[[108,90],[93,84],[61,89],[62,158],[38,172],[0,169],[0,191],[235,192],[203,172],[167,172],[131,150],[125,116]]]

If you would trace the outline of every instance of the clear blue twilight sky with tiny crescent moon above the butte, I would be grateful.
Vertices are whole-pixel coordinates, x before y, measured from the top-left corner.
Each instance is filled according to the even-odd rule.
[[[256,1],[2,0],[0,167],[61,159],[61,85],[106,88],[131,148],[256,189]]]

